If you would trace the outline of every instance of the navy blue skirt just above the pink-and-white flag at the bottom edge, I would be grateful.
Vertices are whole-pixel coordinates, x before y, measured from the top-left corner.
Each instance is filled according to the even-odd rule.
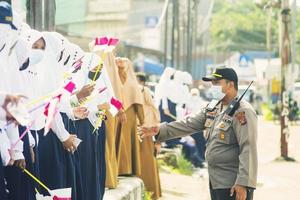
[[[46,136],[43,133],[44,129],[38,131],[40,180],[51,190],[72,188],[72,200],[80,200],[77,195],[75,155],[63,148],[62,142],[52,130]],[[40,192],[49,195],[43,188],[40,188]]]

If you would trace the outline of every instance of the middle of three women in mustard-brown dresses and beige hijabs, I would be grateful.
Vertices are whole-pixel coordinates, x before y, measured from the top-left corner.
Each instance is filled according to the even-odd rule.
[[[133,67],[128,58],[116,58],[124,93],[124,110],[127,122],[117,135],[119,175],[141,175],[140,141],[137,136],[137,119],[144,123],[143,96]]]

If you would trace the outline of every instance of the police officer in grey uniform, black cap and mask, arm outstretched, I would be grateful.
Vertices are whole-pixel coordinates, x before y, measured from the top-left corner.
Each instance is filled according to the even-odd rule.
[[[219,67],[203,81],[212,83],[214,100],[198,114],[155,127],[141,127],[141,137],[158,141],[205,130],[210,195],[212,200],[252,200],[257,181],[257,116],[241,100],[233,115],[228,105],[237,98],[238,77],[232,68]]]

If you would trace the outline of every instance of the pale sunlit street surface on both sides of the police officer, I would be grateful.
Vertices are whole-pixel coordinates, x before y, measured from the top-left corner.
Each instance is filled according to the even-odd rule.
[[[300,160],[300,126],[291,126],[290,156]],[[299,162],[275,161],[280,154],[280,127],[259,118],[258,131],[259,174],[255,200],[300,199]],[[209,200],[206,171],[198,175],[182,176],[161,173],[162,200]],[[200,177],[200,175],[201,177]]]

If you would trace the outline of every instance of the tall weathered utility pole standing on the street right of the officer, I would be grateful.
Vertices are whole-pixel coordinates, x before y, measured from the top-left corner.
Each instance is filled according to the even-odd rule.
[[[281,115],[280,115],[280,125],[281,125],[281,137],[280,137],[280,150],[281,157],[285,160],[288,158],[288,137],[289,137],[289,127],[288,127],[288,114],[289,114],[289,97],[286,91],[286,72],[288,65],[290,63],[290,38],[289,38],[289,22],[290,22],[290,8],[289,1],[282,0],[281,2]]]

